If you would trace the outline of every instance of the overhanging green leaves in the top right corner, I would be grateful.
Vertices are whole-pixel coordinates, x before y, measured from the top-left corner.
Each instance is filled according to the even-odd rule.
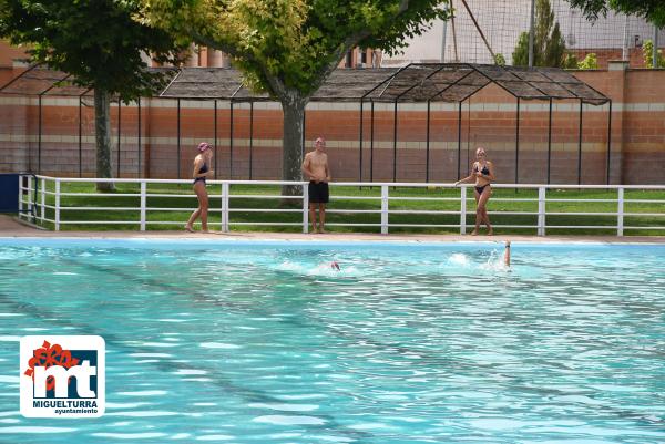
[[[663,0],[567,0],[572,7],[582,9],[589,20],[607,16],[608,10],[646,19],[658,28],[665,27],[665,1]]]

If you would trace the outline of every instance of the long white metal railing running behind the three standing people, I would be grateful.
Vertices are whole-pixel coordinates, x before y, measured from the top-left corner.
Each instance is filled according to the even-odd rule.
[[[49,177],[49,176],[32,176],[30,180],[23,180],[24,176],[19,177],[19,205],[20,209],[28,208],[32,210],[32,214],[20,213],[22,218],[32,218],[41,224],[50,223],[58,231],[62,225],[127,225],[135,224],[140,230],[145,230],[149,225],[180,225],[182,226],[185,220],[150,220],[149,214],[151,211],[187,211],[187,208],[183,207],[150,207],[147,205],[149,199],[152,197],[166,197],[170,199],[188,198],[192,199],[192,208],[196,206],[195,196],[193,193],[187,194],[164,194],[164,193],[150,193],[149,185],[163,185],[163,184],[186,184],[191,185],[191,180],[175,180],[175,179],[100,179],[100,178],[61,178],[61,177]],[[94,184],[94,183],[115,183],[115,184],[137,184],[139,193],[74,193],[63,192],[61,184]],[[27,185],[25,185],[27,184]],[[228,231],[232,226],[243,225],[255,225],[255,226],[301,226],[303,233],[308,233],[309,227],[309,214],[308,214],[308,202],[309,196],[307,193],[306,182],[283,182],[283,180],[208,180],[208,190],[211,192],[211,199],[219,199],[219,207],[209,208],[211,214],[219,213],[219,221],[208,221],[211,226],[218,226],[222,231]],[[283,185],[300,185],[303,194],[298,196],[282,196],[280,194],[232,194],[231,187],[233,185],[245,185],[245,186],[283,186]],[[452,184],[421,184],[421,183],[358,183],[358,182],[344,182],[344,183],[330,183],[330,187],[380,187],[380,195],[374,196],[342,196],[331,193],[330,200],[380,200],[380,208],[378,209],[339,209],[329,208],[327,214],[375,214],[380,215],[379,223],[332,223],[326,224],[327,226],[348,226],[348,227],[376,227],[380,229],[381,234],[388,234],[391,227],[409,227],[409,228],[459,228],[460,234],[467,233],[467,216],[473,215],[474,211],[469,213],[468,202],[473,200],[467,193],[467,188],[470,185],[463,185],[459,187],[459,197],[431,197],[431,196],[417,196],[406,197],[396,196],[390,194],[391,188],[454,188]],[[513,216],[531,216],[535,220],[535,225],[494,225],[497,228],[529,228],[534,229],[539,236],[545,236],[548,229],[613,229],[617,236],[623,236],[627,229],[632,230],[664,230],[665,233],[665,205],[662,213],[627,213],[625,211],[626,204],[665,204],[665,199],[626,199],[624,192],[626,189],[640,189],[640,190],[665,190],[665,185],[541,185],[541,184],[492,184],[493,188],[515,188],[515,189],[538,189],[538,197],[493,197],[492,203],[497,202],[528,202],[533,203],[538,206],[536,211],[491,211],[490,215],[513,215]],[[549,189],[580,189],[580,190],[616,190],[616,198],[548,198]],[[215,190],[218,194],[215,194]],[[113,197],[137,197],[139,206],[120,207],[120,206],[64,206],[63,199],[68,197],[103,197],[112,199]],[[245,198],[245,199],[296,199],[300,200],[301,205],[299,208],[235,208],[231,205],[232,198]],[[426,210],[426,209],[391,209],[391,203],[399,202],[457,202],[459,209],[454,210]],[[52,202],[50,204],[49,202]],[[613,203],[616,211],[548,211],[548,203]],[[473,206],[472,206],[473,207]],[[98,210],[98,211],[135,211],[137,214],[136,219],[132,220],[75,220],[71,218],[63,218],[62,215],[65,211],[80,211],[80,210]],[[47,213],[51,213],[52,217],[47,217]],[[262,223],[262,221],[232,221],[231,215],[233,213],[276,213],[276,214],[288,214],[288,213],[301,213],[301,223]],[[392,216],[398,215],[457,215],[459,217],[459,224],[399,224],[390,223]],[[549,216],[595,216],[598,219],[602,218],[615,218],[615,225],[548,225]],[[656,226],[626,226],[624,224],[627,217],[655,217],[663,218],[663,223],[659,221]]]

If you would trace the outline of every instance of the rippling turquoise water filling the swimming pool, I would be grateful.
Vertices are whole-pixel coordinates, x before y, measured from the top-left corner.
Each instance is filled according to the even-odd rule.
[[[0,239],[0,443],[665,442],[665,246],[501,252]],[[105,339],[104,416],[20,415],[41,333]]]

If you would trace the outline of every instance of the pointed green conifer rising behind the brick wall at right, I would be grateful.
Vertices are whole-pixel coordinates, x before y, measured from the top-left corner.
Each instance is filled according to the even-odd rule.
[[[533,65],[563,66],[566,58],[565,41],[561,35],[559,22],[550,0],[535,1],[533,25]],[[529,65],[529,32],[522,32],[513,51],[513,65]]]

